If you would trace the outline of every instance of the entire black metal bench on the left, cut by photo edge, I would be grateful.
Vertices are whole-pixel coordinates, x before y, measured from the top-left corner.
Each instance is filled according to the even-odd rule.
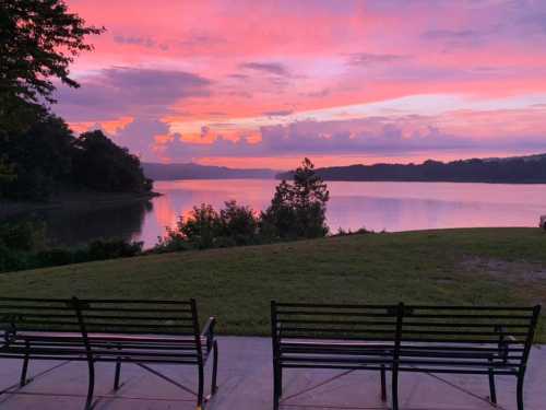
[[[88,367],[85,409],[93,407],[95,363],[115,364],[114,389],[120,387],[122,363],[133,363],[204,401],[204,366],[213,356],[211,396],[216,393],[218,349],[215,319],[200,330],[197,303],[189,301],[0,298],[0,358],[22,359],[19,386],[31,360]],[[3,335],[2,335],[3,333]],[[161,374],[153,364],[191,365],[198,391]]]

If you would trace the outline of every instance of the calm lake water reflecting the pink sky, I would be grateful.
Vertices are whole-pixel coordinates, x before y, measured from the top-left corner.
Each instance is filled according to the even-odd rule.
[[[165,226],[174,226],[192,206],[216,209],[235,199],[254,210],[271,201],[277,180],[221,179],[156,181],[164,194],[149,203],[92,212],[49,211],[50,235],[62,244],[118,236],[157,242]],[[546,185],[492,185],[450,183],[328,183],[331,199],[328,224],[373,231],[413,231],[466,226],[535,226],[546,214]]]

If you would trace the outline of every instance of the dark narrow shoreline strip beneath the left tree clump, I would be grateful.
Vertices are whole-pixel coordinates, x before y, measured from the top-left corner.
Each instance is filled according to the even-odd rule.
[[[0,220],[17,216],[29,212],[51,210],[85,210],[108,209],[138,201],[150,201],[163,194],[108,194],[108,192],[78,192],[62,194],[47,202],[33,201],[0,201]]]

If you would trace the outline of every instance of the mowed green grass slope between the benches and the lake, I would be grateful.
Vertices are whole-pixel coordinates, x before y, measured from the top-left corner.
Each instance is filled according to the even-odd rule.
[[[268,335],[272,298],[526,306],[546,301],[546,233],[422,231],[154,255],[0,274],[0,295],[195,297],[201,319],[215,315],[229,335]]]

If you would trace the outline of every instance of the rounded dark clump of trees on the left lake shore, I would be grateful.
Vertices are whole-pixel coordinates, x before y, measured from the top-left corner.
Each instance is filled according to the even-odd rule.
[[[141,194],[152,189],[136,156],[102,131],[74,138],[54,115],[24,132],[0,134],[0,198],[47,200],[66,190]]]

